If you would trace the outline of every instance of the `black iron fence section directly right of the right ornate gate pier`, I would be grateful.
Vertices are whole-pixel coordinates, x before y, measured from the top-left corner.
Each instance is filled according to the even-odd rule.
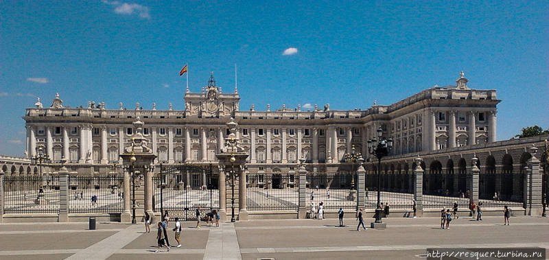
[[[246,176],[246,204],[249,211],[297,211],[297,174],[253,174]],[[230,190],[227,189],[227,198]]]

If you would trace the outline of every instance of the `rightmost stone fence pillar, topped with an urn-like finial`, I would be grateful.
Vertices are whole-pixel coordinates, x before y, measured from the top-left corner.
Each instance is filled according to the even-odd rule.
[[[539,159],[535,157],[537,147],[530,147],[530,154],[532,158],[528,160],[528,199],[526,200],[526,215],[541,216],[543,212],[543,205],[541,204],[541,198],[543,197],[541,190],[542,174],[539,172]],[[543,156],[543,155],[542,155]]]

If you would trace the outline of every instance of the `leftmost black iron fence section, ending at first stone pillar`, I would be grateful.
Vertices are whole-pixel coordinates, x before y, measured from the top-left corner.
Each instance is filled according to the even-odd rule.
[[[59,213],[58,176],[5,176],[5,214]]]

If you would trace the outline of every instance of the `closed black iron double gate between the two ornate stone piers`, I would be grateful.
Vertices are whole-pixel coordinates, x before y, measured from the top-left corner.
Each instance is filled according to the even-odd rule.
[[[212,171],[212,165],[178,165],[162,168],[152,178],[154,183],[153,211],[168,211],[170,220],[196,220],[196,209],[200,206],[200,217],[219,210],[219,174]]]

